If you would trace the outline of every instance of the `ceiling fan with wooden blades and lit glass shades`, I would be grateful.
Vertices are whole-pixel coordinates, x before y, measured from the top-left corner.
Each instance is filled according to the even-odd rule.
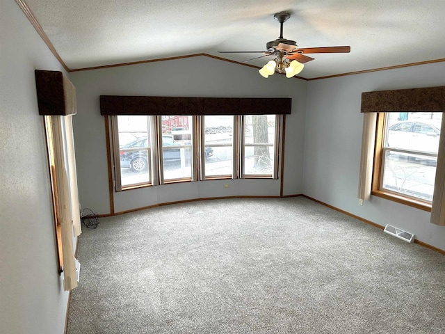
[[[276,40],[271,40],[266,43],[267,51],[218,51],[221,54],[263,54],[263,56],[250,58],[247,61],[264,58],[268,56],[275,56],[273,61],[269,61],[260,70],[259,74],[267,78],[269,75],[278,72],[286,72],[286,77],[291,78],[300,73],[304,67],[304,63],[313,61],[314,58],[306,56],[305,54],[334,54],[334,53],[348,53],[350,47],[298,47],[295,40],[287,40],[283,38],[283,24],[291,17],[289,12],[275,13],[273,18],[280,22],[280,37]]]

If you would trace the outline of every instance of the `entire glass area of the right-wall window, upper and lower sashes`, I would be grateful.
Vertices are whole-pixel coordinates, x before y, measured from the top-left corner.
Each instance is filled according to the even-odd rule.
[[[442,113],[387,113],[382,189],[432,200]]]

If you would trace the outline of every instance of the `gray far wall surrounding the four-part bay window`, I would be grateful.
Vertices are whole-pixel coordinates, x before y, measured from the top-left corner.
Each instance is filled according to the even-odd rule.
[[[70,73],[76,86],[74,118],[76,165],[82,207],[99,214],[109,209],[104,116],[99,95],[185,97],[291,97],[286,116],[284,194],[302,193],[302,157],[307,81],[282,75],[262,78],[252,67],[206,56]],[[271,110],[270,113],[275,113]],[[229,188],[223,188],[229,183]],[[191,198],[280,196],[280,180],[186,182],[115,193],[115,212]]]

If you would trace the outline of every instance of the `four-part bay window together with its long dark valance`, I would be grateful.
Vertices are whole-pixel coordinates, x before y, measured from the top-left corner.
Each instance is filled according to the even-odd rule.
[[[291,99],[102,95],[100,111],[107,117],[110,187],[122,191],[174,182],[277,179]]]

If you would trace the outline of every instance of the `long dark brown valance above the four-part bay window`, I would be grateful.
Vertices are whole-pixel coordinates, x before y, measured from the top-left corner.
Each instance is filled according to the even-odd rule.
[[[291,98],[100,96],[101,115],[266,115],[291,113]]]

